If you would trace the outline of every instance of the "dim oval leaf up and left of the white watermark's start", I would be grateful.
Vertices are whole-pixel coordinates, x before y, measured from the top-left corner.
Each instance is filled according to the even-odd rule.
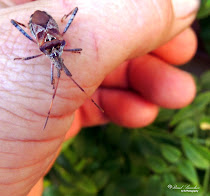
[[[157,156],[150,156],[147,158],[148,166],[151,170],[157,173],[163,173],[167,169],[167,164],[163,159]]]

